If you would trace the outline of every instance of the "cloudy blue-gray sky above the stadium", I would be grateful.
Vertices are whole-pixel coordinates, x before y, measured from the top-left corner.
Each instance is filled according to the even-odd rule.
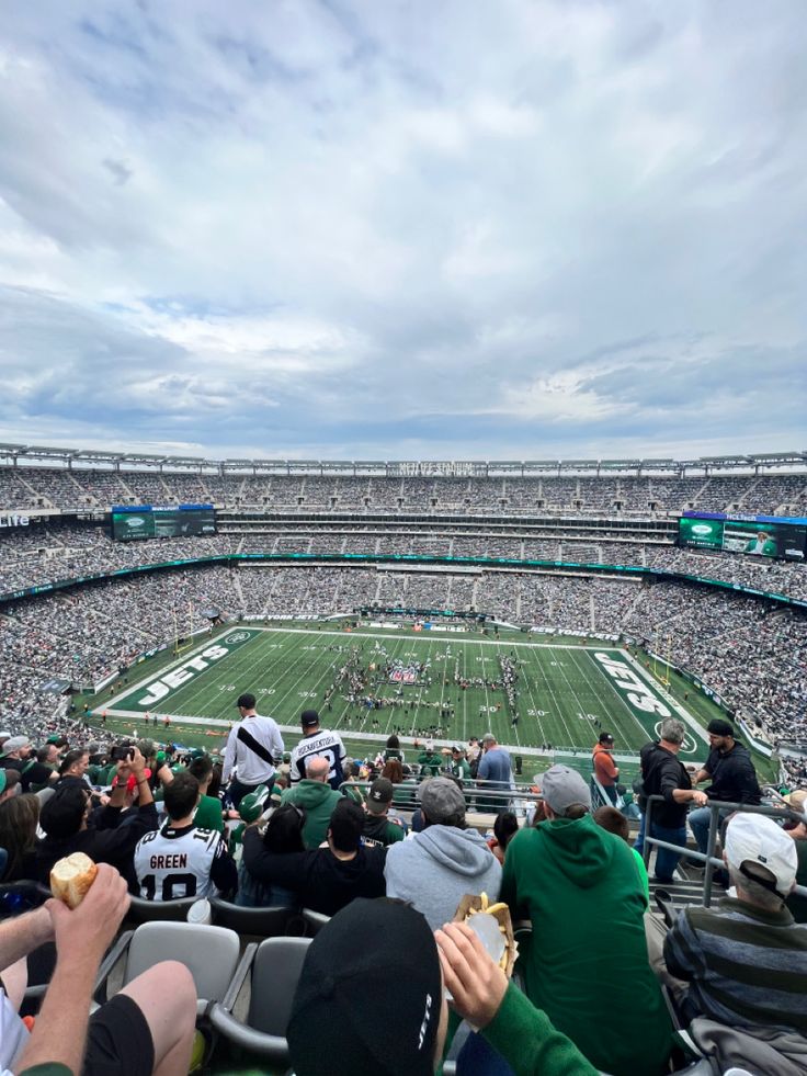
[[[807,449],[804,0],[37,0],[0,440]]]

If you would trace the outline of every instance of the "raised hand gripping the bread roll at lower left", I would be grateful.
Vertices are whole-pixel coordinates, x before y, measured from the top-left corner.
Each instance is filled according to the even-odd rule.
[[[100,964],[128,910],[129,894],[115,868],[99,863],[95,881],[78,908],[71,910],[55,899],[45,907],[54,925],[57,955]]]

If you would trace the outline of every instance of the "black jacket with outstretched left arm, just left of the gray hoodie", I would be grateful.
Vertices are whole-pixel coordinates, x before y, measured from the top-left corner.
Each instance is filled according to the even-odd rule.
[[[270,852],[253,826],[243,835],[243,864],[258,882],[299,895],[311,911],[332,916],[355,897],[384,896],[385,848],[360,847],[355,859],[340,860],[330,848],[309,852]]]

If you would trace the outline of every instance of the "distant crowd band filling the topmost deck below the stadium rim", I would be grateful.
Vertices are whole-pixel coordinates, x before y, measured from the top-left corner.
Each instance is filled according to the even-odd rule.
[[[0,467],[0,502],[62,510],[213,502],[285,511],[554,512],[650,514],[685,508],[804,513],[803,475],[501,478],[254,476],[21,466]]]

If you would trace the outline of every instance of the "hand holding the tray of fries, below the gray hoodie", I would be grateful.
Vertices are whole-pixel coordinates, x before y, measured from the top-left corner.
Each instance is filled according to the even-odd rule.
[[[507,975],[466,922],[446,922],[434,940],[452,1006],[475,1028],[487,1027],[507,993]]]

